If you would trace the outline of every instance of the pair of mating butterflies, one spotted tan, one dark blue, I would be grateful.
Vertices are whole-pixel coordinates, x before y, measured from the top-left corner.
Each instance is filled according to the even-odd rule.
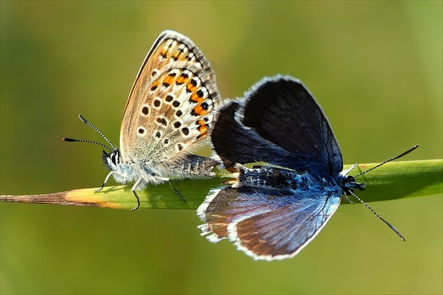
[[[295,256],[323,228],[342,195],[364,189],[347,175],[351,169],[342,171],[328,120],[300,81],[263,79],[245,98],[221,105],[210,63],[191,39],[169,30],[150,48],[132,86],[120,150],[105,136],[110,147],[64,140],[108,148],[103,162],[110,173],[101,188],[110,176],[134,182],[137,209],[136,190],[148,183],[214,176],[219,161],[190,153],[208,137],[236,181],[206,197],[197,210],[205,222],[199,228],[211,234],[208,240],[228,238],[255,259]],[[255,162],[267,164],[242,165]]]

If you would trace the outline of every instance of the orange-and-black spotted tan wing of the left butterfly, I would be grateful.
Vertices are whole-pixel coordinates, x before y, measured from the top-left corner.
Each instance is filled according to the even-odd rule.
[[[212,131],[220,100],[203,53],[182,34],[165,31],[150,48],[124,109],[122,157],[176,163]]]

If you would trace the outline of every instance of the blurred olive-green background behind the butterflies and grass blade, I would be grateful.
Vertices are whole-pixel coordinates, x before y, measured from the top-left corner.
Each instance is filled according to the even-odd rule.
[[[224,98],[302,79],[346,164],[442,157],[442,1],[0,1],[1,194],[101,185],[127,95],[164,29],[186,34]],[[112,185],[112,183],[110,183]],[[370,189],[370,188],[368,188]],[[185,196],[186,197],[186,196]],[[341,206],[298,256],[255,262],[200,237],[194,211],[1,203],[2,294],[441,294],[442,195]]]

